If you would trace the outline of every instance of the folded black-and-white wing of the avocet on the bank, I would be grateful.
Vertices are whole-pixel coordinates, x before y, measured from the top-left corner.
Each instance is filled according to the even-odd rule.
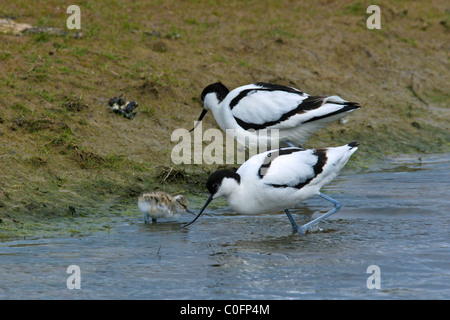
[[[245,130],[288,129],[359,108],[338,96],[309,96],[292,87],[265,82],[236,88],[226,100]]]

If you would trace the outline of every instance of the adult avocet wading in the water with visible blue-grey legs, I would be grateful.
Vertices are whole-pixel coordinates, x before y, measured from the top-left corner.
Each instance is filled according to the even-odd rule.
[[[268,213],[284,210],[294,232],[306,231],[336,213],[341,204],[324,195],[320,189],[333,180],[358,149],[357,143],[326,149],[280,148],[257,154],[247,160],[236,172],[219,170],[206,182],[210,197],[196,221],[215,198],[226,197],[229,206],[244,214]],[[315,220],[299,227],[289,212],[314,195],[330,201],[334,208]]]

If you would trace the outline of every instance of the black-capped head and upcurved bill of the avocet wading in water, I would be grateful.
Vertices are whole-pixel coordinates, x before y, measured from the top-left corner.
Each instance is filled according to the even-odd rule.
[[[197,220],[202,215],[203,211],[205,211],[206,207],[213,199],[231,194],[233,190],[239,186],[240,182],[241,176],[231,170],[219,170],[211,174],[208,178],[208,181],[206,182],[206,188],[211,195],[209,196],[208,200],[206,200],[206,203],[200,210],[199,214],[195,217],[195,219],[189,222],[184,227],[193,224],[195,220]]]

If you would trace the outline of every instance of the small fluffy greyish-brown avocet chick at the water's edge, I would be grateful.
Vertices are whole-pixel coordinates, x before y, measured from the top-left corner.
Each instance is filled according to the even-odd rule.
[[[189,201],[185,196],[172,197],[170,194],[156,191],[142,194],[138,199],[139,210],[144,215],[144,221],[156,223],[158,218],[176,218],[181,213],[188,212]]]

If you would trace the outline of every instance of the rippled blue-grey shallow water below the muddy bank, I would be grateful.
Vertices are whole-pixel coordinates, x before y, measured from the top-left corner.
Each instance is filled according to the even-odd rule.
[[[284,213],[224,207],[182,230],[136,213],[109,233],[0,242],[0,298],[449,299],[449,181],[450,155],[346,171],[322,190],[341,211],[304,236]],[[329,209],[315,197],[292,212],[305,223]],[[69,265],[81,289],[67,288]]]

